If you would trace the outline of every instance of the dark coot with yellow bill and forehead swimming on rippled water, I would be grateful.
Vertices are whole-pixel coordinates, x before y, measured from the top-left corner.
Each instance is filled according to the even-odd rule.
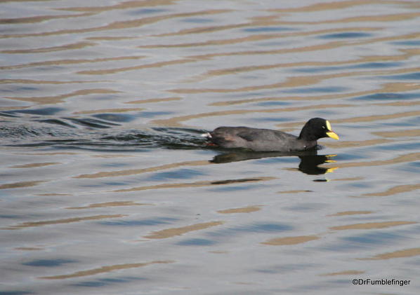
[[[298,137],[278,130],[224,126],[202,136],[216,146],[253,151],[305,151],[315,149],[317,139],[322,137],[339,139],[329,121],[322,118],[306,122]]]

